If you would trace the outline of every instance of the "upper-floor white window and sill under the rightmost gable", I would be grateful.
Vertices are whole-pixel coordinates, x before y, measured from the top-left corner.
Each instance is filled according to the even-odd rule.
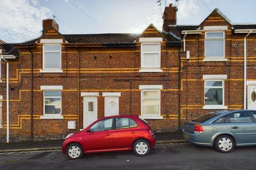
[[[227,61],[225,58],[225,31],[205,32],[204,56],[204,61]]]

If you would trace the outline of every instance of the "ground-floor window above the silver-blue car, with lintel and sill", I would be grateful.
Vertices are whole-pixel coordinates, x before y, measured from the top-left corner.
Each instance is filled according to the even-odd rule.
[[[204,109],[227,109],[225,106],[226,75],[205,75]],[[219,79],[218,79],[219,77]],[[223,78],[224,77],[224,78]],[[222,79],[221,79],[222,78]]]

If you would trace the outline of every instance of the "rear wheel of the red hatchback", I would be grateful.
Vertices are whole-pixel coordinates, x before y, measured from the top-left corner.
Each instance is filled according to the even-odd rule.
[[[139,139],[134,142],[133,151],[134,151],[134,154],[136,154],[137,156],[146,156],[149,154],[150,145],[148,141]]]

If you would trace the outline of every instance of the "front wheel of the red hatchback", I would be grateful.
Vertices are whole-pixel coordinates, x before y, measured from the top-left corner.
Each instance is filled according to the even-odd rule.
[[[70,160],[79,159],[84,154],[82,146],[79,145],[78,143],[72,143],[71,145],[69,145],[67,147],[66,153],[67,153],[68,159]]]

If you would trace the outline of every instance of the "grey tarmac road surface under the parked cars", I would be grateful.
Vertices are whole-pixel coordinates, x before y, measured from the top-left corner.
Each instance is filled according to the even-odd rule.
[[[145,157],[138,157],[132,151],[85,154],[78,160],[69,160],[60,150],[5,153],[0,154],[0,169],[255,170],[255,157],[256,147],[237,147],[222,154],[211,147],[191,143],[158,143]]]

